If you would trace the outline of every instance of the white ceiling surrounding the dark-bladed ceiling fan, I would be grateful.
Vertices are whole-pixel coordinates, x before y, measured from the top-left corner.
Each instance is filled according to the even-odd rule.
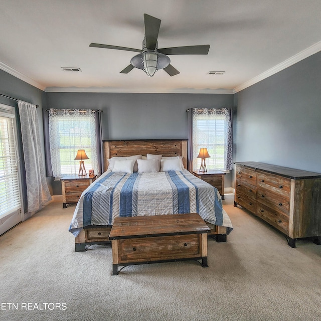
[[[144,13],[162,20],[159,48],[209,54],[171,55],[181,73],[149,78],[119,73],[137,53],[89,47],[141,49]],[[320,13],[320,0],[0,0],[0,68],[45,91],[236,92],[320,51]]]

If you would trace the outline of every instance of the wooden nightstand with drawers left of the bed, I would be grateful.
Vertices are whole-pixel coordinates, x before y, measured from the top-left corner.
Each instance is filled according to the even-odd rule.
[[[61,178],[63,208],[65,209],[68,203],[77,203],[81,193],[96,179],[97,175],[68,175]]]

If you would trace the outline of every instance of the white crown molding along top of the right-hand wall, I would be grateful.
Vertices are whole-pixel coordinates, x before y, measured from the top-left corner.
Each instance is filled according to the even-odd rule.
[[[268,69],[267,71],[263,72],[262,74],[250,79],[249,81],[246,81],[245,83],[237,86],[234,88],[233,92],[237,93],[247,87],[250,87],[256,83],[258,83],[259,81],[268,78],[276,73],[278,73],[279,71],[288,68],[294,64],[296,64],[297,62],[312,56],[314,54],[316,54],[317,52],[321,51],[321,41],[317,42],[316,44],[302,50],[301,52],[299,52],[298,54],[290,57],[289,59],[286,59],[285,61],[281,62],[280,64],[272,67],[271,69]]]

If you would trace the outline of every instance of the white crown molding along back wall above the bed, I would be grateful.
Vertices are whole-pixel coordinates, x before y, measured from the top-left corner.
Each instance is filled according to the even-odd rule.
[[[195,88],[121,88],[121,87],[47,87],[45,92],[95,92],[95,93],[144,93],[144,94],[233,94],[233,89]]]

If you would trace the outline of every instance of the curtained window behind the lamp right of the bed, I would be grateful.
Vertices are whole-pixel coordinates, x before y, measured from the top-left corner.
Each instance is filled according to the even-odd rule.
[[[193,108],[192,135],[193,170],[200,168],[197,156],[205,147],[211,156],[206,158],[208,170],[232,170],[232,126],[227,108]]]

